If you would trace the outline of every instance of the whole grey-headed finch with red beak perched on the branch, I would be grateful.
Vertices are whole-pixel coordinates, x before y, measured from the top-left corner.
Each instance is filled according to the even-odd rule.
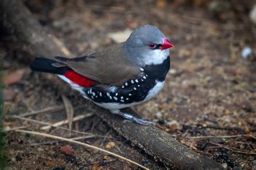
[[[124,123],[154,126],[154,122],[120,109],[144,103],[163,89],[170,69],[170,47],[173,45],[156,26],[144,25],[125,42],[75,58],[37,57],[30,67],[57,74],[84,98],[122,115]]]

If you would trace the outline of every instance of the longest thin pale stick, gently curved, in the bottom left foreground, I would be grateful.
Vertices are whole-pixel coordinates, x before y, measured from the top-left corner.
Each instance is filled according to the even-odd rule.
[[[122,157],[122,156],[120,156],[120,155],[118,155],[118,154],[115,154],[115,153],[106,151],[105,149],[102,149],[102,148],[99,148],[99,147],[96,147],[96,146],[84,144],[83,142],[79,142],[79,141],[72,140],[72,139],[68,139],[68,138],[58,137],[58,136],[56,136],[56,135],[51,135],[51,134],[46,134],[46,133],[40,133],[40,132],[25,131],[25,130],[15,130],[15,131],[16,131],[16,132],[21,132],[21,133],[35,134],[35,135],[39,135],[39,136],[46,137],[46,138],[52,138],[52,139],[58,139],[58,140],[68,141],[68,142],[71,142],[71,143],[73,143],[73,144],[78,144],[78,145],[82,145],[82,146],[89,147],[89,148],[92,148],[92,149],[97,149],[98,151],[101,151],[101,152],[110,154],[110,155],[112,155],[112,156],[114,156],[114,157],[117,157],[117,158],[123,159],[123,160],[125,160],[125,161],[127,161],[127,162],[130,162],[131,164],[137,165],[137,166],[139,166],[140,168],[148,169],[148,170],[149,170],[149,168],[146,168],[145,166],[142,166],[142,165],[138,164],[137,162],[134,162],[134,161],[132,161],[132,160],[130,160],[130,159],[124,158],[124,157]]]

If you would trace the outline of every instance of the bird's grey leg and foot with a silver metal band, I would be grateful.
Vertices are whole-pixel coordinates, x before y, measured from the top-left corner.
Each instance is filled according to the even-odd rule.
[[[139,119],[137,117],[134,117],[134,115],[132,115],[132,114],[123,113],[120,110],[110,110],[110,112],[113,114],[122,115],[122,117],[124,117],[126,119],[123,121],[123,123],[125,123],[125,124],[130,123],[130,122],[135,122],[137,124],[145,125],[145,126],[156,126],[156,123],[154,123],[152,121],[146,121],[145,118]]]

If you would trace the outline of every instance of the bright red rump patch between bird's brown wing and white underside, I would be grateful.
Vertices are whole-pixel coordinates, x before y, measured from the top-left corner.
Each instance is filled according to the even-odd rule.
[[[92,85],[95,84],[94,80],[84,77],[84,76],[76,73],[75,71],[66,72],[66,73],[64,73],[64,76],[79,86],[91,87]]]

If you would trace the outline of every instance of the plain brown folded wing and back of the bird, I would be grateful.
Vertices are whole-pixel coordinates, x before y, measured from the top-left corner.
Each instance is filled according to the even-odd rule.
[[[138,66],[131,64],[122,52],[122,43],[102,51],[66,61],[66,65],[83,76],[100,83],[120,86],[125,81],[138,78]]]

